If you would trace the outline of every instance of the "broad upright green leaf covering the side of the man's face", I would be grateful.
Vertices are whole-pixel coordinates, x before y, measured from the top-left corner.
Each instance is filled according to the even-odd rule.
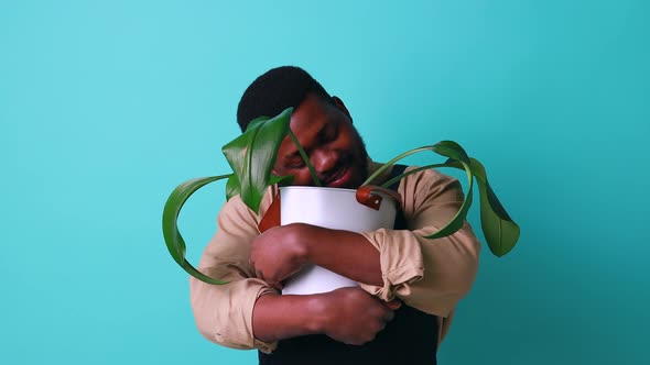
[[[237,180],[229,181],[228,193],[237,191],[234,186],[239,181],[241,200],[254,212],[259,211],[266,189],[272,185],[271,170],[289,132],[292,112],[293,108],[288,108],[274,118],[256,119],[245,133],[221,148],[237,175]]]

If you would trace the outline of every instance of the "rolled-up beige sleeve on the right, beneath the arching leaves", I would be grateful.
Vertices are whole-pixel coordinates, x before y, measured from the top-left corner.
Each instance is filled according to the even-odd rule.
[[[458,180],[424,170],[402,180],[408,230],[377,230],[364,236],[379,251],[382,286],[360,283],[383,300],[399,298],[424,312],[447,317],[469,291],[478,269],[480,243],[467,222],[453,235],[425,239],[437,232],[463,204]]]

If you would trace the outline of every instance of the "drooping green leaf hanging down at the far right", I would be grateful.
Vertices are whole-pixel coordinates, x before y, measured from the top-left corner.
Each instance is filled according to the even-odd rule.
[[[470,162],[472,173],[476,176],[480,193],[480,226],[490,252],[495,256],[501,257],[517,244],[520,229],[489,185],[483,164],[476,158],[470,158]],[[461,168],[457,162],[451,159],[445,164],[449,167]]]

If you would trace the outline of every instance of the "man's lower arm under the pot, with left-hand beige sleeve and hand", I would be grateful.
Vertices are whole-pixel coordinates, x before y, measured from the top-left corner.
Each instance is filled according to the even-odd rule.
[[[262,211],[269,200],[262,201]],[[360,344],[370,341],[392,318],[398,303],[386,303],[359,288],[279,296],[256,277],[249,265],[250,240],[259,234],[257,221],[238,197],[226,203],[199,269],[230,283],[218,286],[191,278],[196,324],[206,339],[264,352],[272,351],[278,340],[311,333]]]

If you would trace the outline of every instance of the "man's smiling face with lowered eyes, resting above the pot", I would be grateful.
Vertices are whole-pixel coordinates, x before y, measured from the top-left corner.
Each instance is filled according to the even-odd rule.
[[[343,102],[308,95],[291,115],[291,131],[305,150],[323,186],[358,188],[368,177],[366,147]],[[278,151],[277,175],[293,175],[293,185],[314,185],[297,147],[288,136]]]

